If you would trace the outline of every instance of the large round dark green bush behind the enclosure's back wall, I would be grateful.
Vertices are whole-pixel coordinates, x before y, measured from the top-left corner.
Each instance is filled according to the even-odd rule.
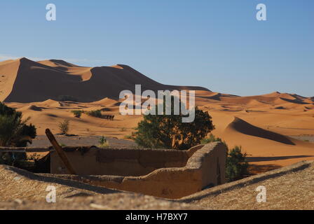
[[[172,104],[174,97],[172,97]],[[182,104],[182,102],[180,102]],[[135,132],[135,143],[146,148],[175,148],[187,150],[191,146],[200,144],[209,132],[214,129],[211,116],[204,111],[195,109],[195,119],[192,123],[182,123],[182,113],[174,114],[174,106],[171,106],[171,115],[165,115],[165,100],[163,115],[145,115],[144,120],[138,123]]]

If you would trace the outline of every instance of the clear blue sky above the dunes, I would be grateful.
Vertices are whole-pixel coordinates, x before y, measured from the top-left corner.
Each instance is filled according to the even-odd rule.
[[[0,31],[0,60],[128,64],[165,84],[314,96],[313,0],[10,0],[0,1]]]

